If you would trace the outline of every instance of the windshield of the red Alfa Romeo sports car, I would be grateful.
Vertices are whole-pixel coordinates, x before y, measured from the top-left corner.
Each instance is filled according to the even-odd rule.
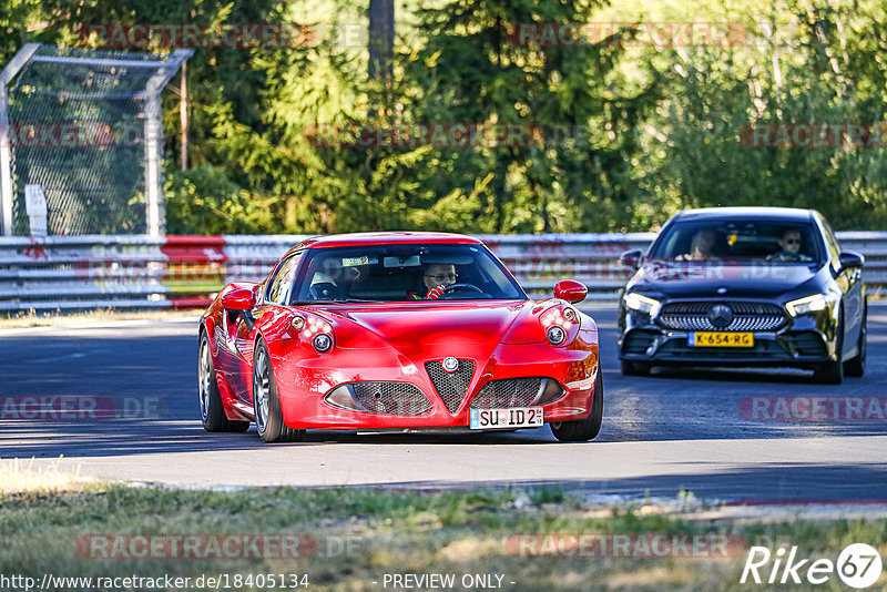
[[[306,249],[290,303],[526,299],[483,245]]]

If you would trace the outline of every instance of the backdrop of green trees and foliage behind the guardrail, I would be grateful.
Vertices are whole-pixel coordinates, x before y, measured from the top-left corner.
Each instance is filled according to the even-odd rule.
[[[367,2],[0,0],[0,57],[83,43],[79,23],[325,24],[299,48],[198,49],[192,171],[177,80],[164,92],[167,231],[472,233],[655,228],[689,206],[816,207],[838,228],[887,223],[883,149],[748,147],[759,122],[885,121],[887,9],[875,0],[410,0],[394,76],[367,80]],[[434,9],[428,8],[434,6]],[[521,22],[737,22],[735,47],[520,45]],[[31,32],[28,32],[28,30]],[[518,124],[520,145],[319,145],[318,126]]]

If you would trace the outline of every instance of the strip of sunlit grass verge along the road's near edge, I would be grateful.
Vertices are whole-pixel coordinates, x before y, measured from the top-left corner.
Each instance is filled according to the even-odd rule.
[[[35,578],[38,582],[45,573],[90,578],[169,574],[192,578],[191,585],[182,588],[186,590],[200,590],[194,586],[194,579],[201,575],[226,576],[233,590],[282,590],[279,585],[268,585],[269,575],[299,574],[297,581],[308,582],[312,590],[370,591],[392,589],[390,579],[385,585],[386,574],[390,578],[391,574],[439,573],[452,574],[455,585],[410,589],[496,589],[495,585],[478,585],[479,580],[465,585],[467,580],[462,580],[489,574],[490,584],[511,591],[726,591],[762,588],[740,584],[747,557],[744,547],[740,552],[731,547],[731,557],[713,559],[670,553],[651,557],[652,551],[639,550],[638,543],[654,533],[672,533],[733,535],[734,542],[738,537],[744,545],[764,545],[774,552],[779,545],[797,545],[798,558],[833,561],[842,549],[854,542],[874,545],[883,557],[887,552],[884,521],[740,523],[694,520],[686,514],[593,506],[557,490],[537,490],[529,494],[519,490],[466,493],[290,488],[214,492],[116,484],[104,484],[98,490],[61,490],[68,492],[34,496],[16,493],[11,488],[7,491],[6,499],[0,502],[0,532],[4,543],[0,574],[21,574]],[[621,557],[624,553],[616,553],[620,557],[520,557],[520,545],[512,544],[516,534],[544,537],[547,533],[628,534],[636,539],[625,548],[628,557]],[[237,535],[239,541],[244,535],[302,535],[297,548],[302,554],[249,559],[232,558],[232,553],[224,550],[216,554],[211,550],[213,547],[206,544],[206,535],[220,534]],[[146,551],[147,543],[136,544],[133,537],[139,535],[151,535],[154,537],[152,541],[166,543],[181,541],[176,539],[180,535],[203,537],[203,542],[192,548],[192,554],[197,558],[181,557],[186,554],[183,542],[175,551],[177,558],[165,557],[173,552],[174,544],[157,547],[159,554],[164,557],[152,558],[153,551]],[[231,549],[239,547],[235,544]],[[542,543],[533,549],[537,553],[558,553],[557,545]],[[278,548],[272,551],[271,555],[281,554]],[[600,547],[591,551],[592,555],[601,554]],[[116,553],[118,559],[101,559],[106,552]],[[149,557],[136,557],[144,553]],[[772,564],[766,575],[769,567]],[[244,580],[239,586],[234,586],[237,574]],[[253,580],[247,584],[248,574],[253,574]],[[265,579],[259,582],[256,574],[264,574]],[[306,580],[302,579],[304,575]],[[502,576],[501,581],[497,575]],[[837,575],[833,574],[829,581],[830,588],[826,585],[825,589],[842,588]],[[873,589],[879,589],[885,581],[881,575]],[[791,588],[823,589],[809,584]],[[179,590],[144,585],[132,589]]]

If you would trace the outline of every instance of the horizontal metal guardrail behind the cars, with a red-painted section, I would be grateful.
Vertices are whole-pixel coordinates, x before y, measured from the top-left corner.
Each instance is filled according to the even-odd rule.
[[[655,234],[478,235],[523,288],[551,294],[574,278],[589,299],[612,302],[630,272],[623,251],[646,248]],[[206,306],[234,280],[261,282],[303,235],[0,237],[0,312]],[[887,289],[887,232],[838,233],[866,256],[869,294]]]

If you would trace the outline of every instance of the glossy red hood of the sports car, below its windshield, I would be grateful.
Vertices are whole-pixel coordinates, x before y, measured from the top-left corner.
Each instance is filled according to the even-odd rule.
[[[336,345],[343,349],[392,347],[410,357],[419,353],[458,357],[489,356],[503,340],[541,341],[541,328],[528,330],[538,327],[533,306],[529,300],[497,300],[339,305],[320,310],[334,323]]]

